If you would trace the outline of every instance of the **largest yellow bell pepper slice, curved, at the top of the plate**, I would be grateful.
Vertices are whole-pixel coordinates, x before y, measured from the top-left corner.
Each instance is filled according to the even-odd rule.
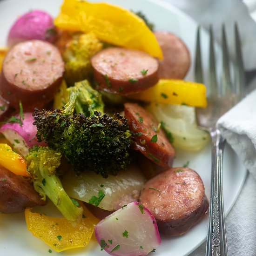
[[[66,30],[93,32],[100,40],[162,59],[162,50],[155,35],[140,17],[122,7],[64,0],[54,25]]]

